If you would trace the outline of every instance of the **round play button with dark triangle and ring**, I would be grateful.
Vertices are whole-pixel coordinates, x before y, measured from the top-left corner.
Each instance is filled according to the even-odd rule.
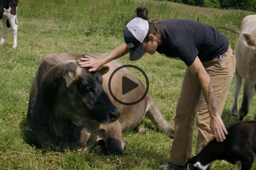
[[[131,72],[131,69],[135,70],[136,75]],[[146,83],[142,81],[143,79]],[[131,64],[122,65],[111,73],[108,89],[116,102],[123,105],[135,105],[146,97],[149,80],[141,68]]]

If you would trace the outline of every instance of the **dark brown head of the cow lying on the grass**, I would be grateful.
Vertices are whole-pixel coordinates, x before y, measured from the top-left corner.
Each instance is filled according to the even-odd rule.
[[[108,66],[102,66],[97,72],[89,72],[88,68],[80,67],[79,61],[62,66],[57,106],[75,125],[112,123],[119,118],[119,110],[102,88],[102,75],[108,71]]]

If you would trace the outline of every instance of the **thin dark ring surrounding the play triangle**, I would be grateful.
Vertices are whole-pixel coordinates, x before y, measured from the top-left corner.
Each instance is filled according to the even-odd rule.
[[[112,92],[112,90],[111,90],[111,80],[112,80],[114,74],[115,74],[118,70],[120,70],[120,69],[122,69],[122,68],[127,68],[127,67],[136,68],[137,70],[139,70],[140,72],[142,72],[142,74],[143,74],[143,76],[146,78],[146,82],[147,82],[146,91],[145,91],[145,93],[143,94],[143,96],[142,96],[139,100],[137,100],[137,101],[135,101],[135,102],[131,102],[131,103],[127,103],[127,102],[122,102],[122,101],[120,101],[119,99],[117,99],[117,98],[115,97],[115,95],[113,94],[113,92]],[[138,78],[138,77],[137,77],[137,78]],[[138,78],[138,79],[139,79],[139,78]],[[108,89],[109,89],[110,95],[112,96],[112,98],[115,99],[116,102],[119,102],[120,104],[123,104],[123,105],[135,105],[135,104],[141,102],[141,101],[146,97],[146,95],[147,95],[147,93],[148,93],[148,90],[149,90],[149,79],[148,79],[148,76],[146,75],[146,73],[145,73],[141,68],[139,68],[139,67],[137,67],[137,66],[135,66],[135,65],[126,64],[126,65],[120,66],[119,68],[116,68],[116,69],[114,70],[114,72],[111,73],[111,75],[110,75],[110,77],[109,77],[109,81],[108,81]]]

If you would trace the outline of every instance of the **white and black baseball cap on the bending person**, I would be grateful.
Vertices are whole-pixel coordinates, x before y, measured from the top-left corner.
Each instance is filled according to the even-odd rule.
[[[124,30],[124,41],[130,50],[130,60],[140,59],[144,53],[143,40],[149,30],[147,20],[136,17],[130,21]]]

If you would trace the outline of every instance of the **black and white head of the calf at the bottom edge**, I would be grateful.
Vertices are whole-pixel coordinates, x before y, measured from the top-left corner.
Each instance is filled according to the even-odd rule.
[[[200,162],[198,160],[198,155],[194,157],[190,157],[185,163],[186,170],[206,170],[206,168],[210,165],[210,163]]]

